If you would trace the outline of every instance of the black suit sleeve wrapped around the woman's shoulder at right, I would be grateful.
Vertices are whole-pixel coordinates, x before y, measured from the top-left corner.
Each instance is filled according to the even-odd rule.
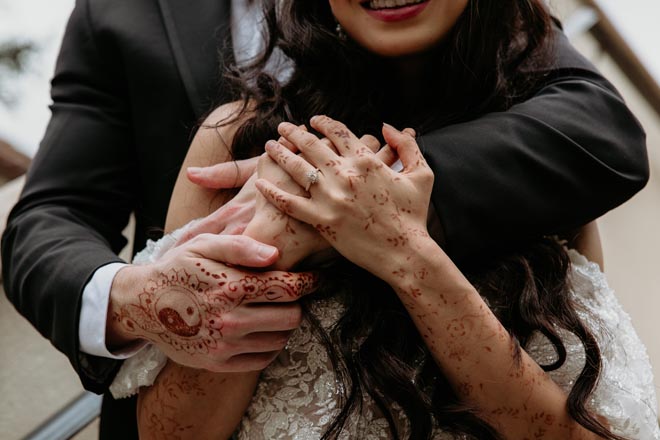
[[[530,99],[419,139],[458,262],[588,223],[648,181],[638,121],[559,30],[555,39],[556,65]]]

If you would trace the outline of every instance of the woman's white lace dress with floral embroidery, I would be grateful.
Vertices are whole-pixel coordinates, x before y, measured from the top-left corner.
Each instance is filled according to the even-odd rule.
[[[166,237],[150,242],[136,256],[137,263],[154,261],[175,242]],[[569,277],[573,298],[582,307],[581,318],[596,336],[603,357],[598,386],[589,409],[607,418],[612,431],[629,439],[660,439],[657,401],[651,365],[646,349],[608,287],[598,265],[576,251],[569,251],[572,267]],[[342,314],[342,304],[323,299],[311,308],[322,327],[329,329]],[[570,334],[563,335],[568,358],[550,373],[564,390],[570,390],[584,364],[581,344]],[[527,351],[540,364],[550,364],[555,351],[541,335],[533,338]],[[111,386],[115,397],[126,397],[140,386],[153,384],[165,365],[165,356],[151,346],[126,361]],[[239,440],[318,439],[339,411],[337,382],[321,342],[310,324],[303,321],[279,357],[263,371],[250,406],[236,437]],[[388,425],[369,398],[363,402],[360,417],[351,417],[342,439],[389,439]],[[400,426],[405,427],[401,416]],[[436,432],[434,438],[456,439]]]

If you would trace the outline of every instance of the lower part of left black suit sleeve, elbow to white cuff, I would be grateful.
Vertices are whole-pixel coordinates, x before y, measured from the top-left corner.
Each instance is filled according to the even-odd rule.
[[[17,206],[3,236],[7,296],[69,358],[86,389],[105,392],[118,362],[80,352],[80,301],[94,271],[121,260],[103,237],[76,218],[75,210],[26,208],[25,202]]]

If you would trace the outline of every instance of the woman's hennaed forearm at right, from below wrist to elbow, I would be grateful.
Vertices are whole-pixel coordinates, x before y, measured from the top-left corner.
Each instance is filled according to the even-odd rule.
[[[409,249],[400,258],[409,275],[395,269],[386,279],[458,396],[505,438],[596,438],[568,414],[552,379],[524,351],[517,356],[514,339],[444,252],[428,239]]]

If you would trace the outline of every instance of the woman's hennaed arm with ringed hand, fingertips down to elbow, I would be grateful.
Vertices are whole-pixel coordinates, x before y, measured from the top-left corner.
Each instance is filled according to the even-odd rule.
[[[321,170],[311,198],[261,180],[257,188],[395,289],[456,392],[505,438],[597,438],[571,418],[566,395],[551,378],[524,351],[516,356],[511,335],[428,236],[433,174],[414,140],[384,129],[404,163],[396,174],[379,166],[336,121],[315,118],[312,126],[335,143],[339,155],[290,124],[280,126],[280,134],[306,155],[307,168]],[[269,154],[304,181],[305,166],[295,156],[281,147],[269,148]]]

